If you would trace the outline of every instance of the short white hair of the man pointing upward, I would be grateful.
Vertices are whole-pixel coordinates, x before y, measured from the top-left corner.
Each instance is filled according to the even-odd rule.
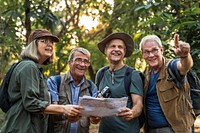
[[[158,44],[159,47],[162,47],[162,42],[161,42],[161,40],[158,36],[147,35],[147,36],[143,37],[141,42],[140,42],[140,50],[142,50],[142,46],[144,45],[144,43],[146,43],[148,41],[155,41]]]

